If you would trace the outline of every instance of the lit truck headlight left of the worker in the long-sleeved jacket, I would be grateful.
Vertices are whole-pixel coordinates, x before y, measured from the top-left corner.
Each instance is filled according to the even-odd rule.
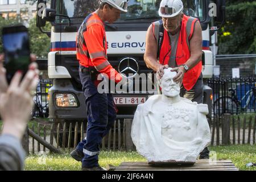
[[[72,94],[55,94],[55,102],[58,107],[77,107],[77,101]]]

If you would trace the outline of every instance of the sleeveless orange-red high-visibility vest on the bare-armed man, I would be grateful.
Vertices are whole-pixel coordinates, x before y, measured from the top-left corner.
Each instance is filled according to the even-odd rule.
[[[190,16],[184,15],[183,20],[181,22],[180,35],[177,43],[177,51],[176,51],[176,63],[177,66],[185,64],[189,57],[191,56],[189,40],[193,35],[193,31],[195,29],[195,23],[198,19],[192,18]],[[159,20],[157,22],[152,23],[153,33],[156,39],[156,42],[159,45],[159,28],[163,26],[163,21]],[[161,32],[160,32],[161,33]],[[168,36],[168,32],[164,29],[163,33],[162,46],[159,48],[159,63],[160,64],[168,64],[171,56],[171,46],[170,39]],[[186,90],[191,90],[193,86],[196,84],[200,74],[202,71],[202,61],[197,63],[195,67],[190,69],[184,74],[183,78],[183,86]]]

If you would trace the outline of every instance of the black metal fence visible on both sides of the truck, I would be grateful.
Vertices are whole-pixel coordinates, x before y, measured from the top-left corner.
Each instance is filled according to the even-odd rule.
[[[256,113],[256,77],[214,77],[208,79],[208,85],[213,89],[214,116]],[[51,86],[51,80],[40,80],[33,99],[35,104],[31,117],[48,117],[48,90]]]

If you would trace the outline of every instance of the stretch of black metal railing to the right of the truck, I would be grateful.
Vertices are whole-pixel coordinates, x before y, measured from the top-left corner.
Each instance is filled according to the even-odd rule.
[[[208,85],[213,89],[213,113],[239,114],[256,111],[256,78],[211,78]]]

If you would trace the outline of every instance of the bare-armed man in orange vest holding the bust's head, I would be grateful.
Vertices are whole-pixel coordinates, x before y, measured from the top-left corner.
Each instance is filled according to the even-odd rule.
[[[202,76],[202,28],[197,18],[183,14],[181,0],[162,0],[159,7],[162,20],[150,25],[146,35],[144,61],[154,69],[159,78],[163,69],[173,68],[180,82],[180,96],[203,103]],[[200,154],[201,159],[209,158],[208,148]]]

